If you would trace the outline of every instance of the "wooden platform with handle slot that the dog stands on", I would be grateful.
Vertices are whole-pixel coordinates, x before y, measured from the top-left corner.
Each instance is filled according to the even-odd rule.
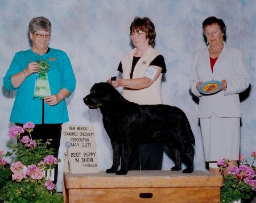
[[[125,176],[64,172],[64,201],[220,202],[221,176],[205,171],[129,171]]]

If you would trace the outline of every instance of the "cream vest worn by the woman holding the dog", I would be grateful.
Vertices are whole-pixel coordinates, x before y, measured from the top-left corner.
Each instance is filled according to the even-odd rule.
[[[130,79],[131,65],[133,63],[133,55],[136,48],[133,49],[121,60],[122,68],[123,68],[123,78]],[[156,56],[160,55],[155,51],[154,48],[148,48],[146,54],[139,59],[138,63],[135,65],[133,78],[143,77],[144,73],[148,65],[152,60],[155,59]],[[143,104],[162,104],[162,94],[161,94],[161,81],[162,81],[162,73],[158,77],[156,81],[154,81],[148,88],[132,90],[128,88],[123,88],[122,96],[126,98],[126,100],[138,103],[140,105]]]

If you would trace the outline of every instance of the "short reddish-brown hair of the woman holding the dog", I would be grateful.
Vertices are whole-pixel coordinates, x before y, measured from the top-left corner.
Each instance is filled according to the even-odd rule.
[[[149,18],[139,18],[138,16],[134,18],[130,26],[130,34],[139,30],[146,33],[146,39],[148,39],[149,45],[154,43],[156,37],[155,26]]]

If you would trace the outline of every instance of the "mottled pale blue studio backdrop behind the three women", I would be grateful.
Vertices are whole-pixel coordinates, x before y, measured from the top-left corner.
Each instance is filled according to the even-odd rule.
[[[71,59],[77,86],[72,96],[67,98],[70,119],[67,124],[94,126],[100,170],[112,165],[112,148],[102,125],[100,110],[88,109],[82,98],[95,82],[118,76],[119,61],[132,49],[129,32],[135,16],[147,16],[155,24],[155,49],[162,53],[167,65],[162,82],[163,103],[180,107],[187,114],[196,138],[196,170],[206,169],[197,119],[198,104],[188,86],[193,53],[206,46],[201,28],[203,20],[209,16],[224,20],[226,42],[242,49],[251,74],[250,88],[241,94],[241,154],[249,160],[251,151],[256,150],[255,1],[0,0],[1,81],[15,52],[30,48],[28,23],[36,16],[45,16],[52,23],[49,47],[65,51]],[[3,85],[1,89],[0,150],[6,152],[10,150],[6,146],[10,140],[7,133],[14,125],[9,122],[9,117],[15,92],[7,91]],[[64,151],[62,144],[62,160]],[[63,163],[60,163],[60,171]],[[172,159],[164,154],[163,169],[169,170],[173,165]],[[61,179],[60,176],[57,183],[59,191],[62,190]]]

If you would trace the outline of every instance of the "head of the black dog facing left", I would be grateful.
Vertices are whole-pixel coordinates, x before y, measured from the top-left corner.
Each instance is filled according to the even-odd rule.
[[[110,100],[115,88],[108,82],[96,83],[90,89],[90,94],[84,97],[84,103],[90,109],[97,109]]]

